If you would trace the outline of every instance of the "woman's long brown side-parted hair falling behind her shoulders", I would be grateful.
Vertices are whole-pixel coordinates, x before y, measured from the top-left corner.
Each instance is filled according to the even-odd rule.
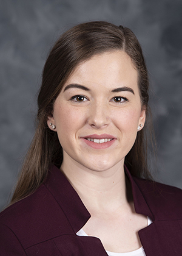
[[[24,165],[13,194],[11,204],[33,193],[41,185],[50,165],[60,167],[62,148],[56,132],[47,126],[47,116],[66,80],[79,63],[93,55],[107,51],[126,52],[138,71],[141,105],[149,119],[149,79],[143,52],[133,32],[127,27],[115,26],[105,21],[78,24],[61,35],[45,62],[42,85],[38,95],[38,115],[35,137],[25,157]],[[146,125],[136,137],[133,148],[126,155],[125,163],[133,176],[150,178],[147,169]]]

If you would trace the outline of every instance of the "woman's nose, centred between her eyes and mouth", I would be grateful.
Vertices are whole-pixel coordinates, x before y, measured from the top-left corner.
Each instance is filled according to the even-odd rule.
[[[109,124],[109,110],[101,102],[90,106],[88,123],[90,126],[100,129]]]

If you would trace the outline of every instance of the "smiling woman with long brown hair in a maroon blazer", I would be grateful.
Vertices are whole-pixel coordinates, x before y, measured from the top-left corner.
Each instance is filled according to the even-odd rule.
[[[181,190],[147,169],[148,90],[130,29],[91,22],[59,38],[35,137],[0,216],[1,255],[180,255]]]

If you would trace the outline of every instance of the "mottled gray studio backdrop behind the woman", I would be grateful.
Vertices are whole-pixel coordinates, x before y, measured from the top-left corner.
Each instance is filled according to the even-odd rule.
[[[34,132],[36,91],[53,42],[77,23],[130,27],[152,85],[158,180],[182,188],[182,1],[0,0],[0,208],[16,182]]]

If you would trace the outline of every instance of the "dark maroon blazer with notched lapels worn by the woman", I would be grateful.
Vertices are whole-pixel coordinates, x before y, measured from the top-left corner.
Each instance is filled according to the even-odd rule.
[[[136,213],[152,219],[140,230],[147,256],[182,255],[182,191],[132,177]],[[66,177],[55,166],[29,197],[0,214],[1,256],[107,256],[92,236],[77,236],[90,214]]]

